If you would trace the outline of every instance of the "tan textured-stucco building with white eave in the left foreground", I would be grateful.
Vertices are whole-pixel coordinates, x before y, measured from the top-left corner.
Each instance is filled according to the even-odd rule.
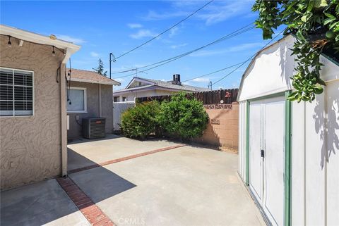
[[[80,46],[0,25],[1,189],[66,175],[66,62]]]

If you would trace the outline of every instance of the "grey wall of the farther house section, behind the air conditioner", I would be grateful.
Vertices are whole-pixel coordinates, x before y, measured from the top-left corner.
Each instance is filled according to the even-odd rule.
[[[69,115],[69,130],[67,131],[68,139],[77,139],[82,137],[82,119],[83,118],[99,118],[100,117],[100,84],[88,82],[71,82],[71,87],[86,88],[87,92],[87,113],[67,113]],[[106,118],[106,133],[113,131],[113,100],[112,85],[101,84],[101,101],[102,101],[102,118]],[[72,97],[70,96],[70,99]],[[79,116],[77,122],[76,115]]]

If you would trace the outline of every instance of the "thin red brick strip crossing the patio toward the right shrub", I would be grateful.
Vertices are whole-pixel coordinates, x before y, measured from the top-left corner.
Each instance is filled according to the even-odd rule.
[[[116,159],[113,159],[113,160],[105,161],[103,163],[97,163],[97,164],[94,164],[94,165],[88,165],[88,166],[85,166],[85,167],[82,167],[82,168],[77,168],[77,169],[69,170],[68,173],[72,174],[72,173],[75,173],[75,172],[81,172],[81,171],[84,171],[84,170],[90,170],[90,169],[98,168],[98,167],[104,166],[104,165],[109,165],[109,164],[113,164],[113,163],[119,163],[121,161],[126,161],[126,160],[129,160],[131,158],[138,158],[138,157],[141,157],[141,156],[147,156],[147,155],[150,155],[152,153],[157,153],[157,152],[160,152],[160,151],[167,151],[167,150],[171,150],[171,149],[177,149],[177,148],[182,147],[182,146],[186,146],[186,144],[178,144],[178,145],[175,145],[175,146],[167,146],[167,147],[162,148],[162,149],[155,149],[153,151],[146,151],[146,152],[137,153],[137,154],[134,154],[134,155],[131,155],[131,156],[126,156],[126,157],[122,157],[122,158],[116,158]]]

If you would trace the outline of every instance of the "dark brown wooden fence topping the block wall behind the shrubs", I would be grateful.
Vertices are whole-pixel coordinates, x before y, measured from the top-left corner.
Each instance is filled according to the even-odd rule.
[[[190,96],[190,94],[186,94]],[[203,104],[230,104],[237,101],[238,89],[220,89],[212,90],[206,92],[195,92],[191,93],[193,98],[202,101]],[[143,103],[146,101],[165,101],[171,99],[170,95],[164,96],[147,96],[147,97],[138,97],[136,98],[137,103]]]

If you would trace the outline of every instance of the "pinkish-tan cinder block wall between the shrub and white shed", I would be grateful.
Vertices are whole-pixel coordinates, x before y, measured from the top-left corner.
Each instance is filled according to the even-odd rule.
[[[222,146],[225,149],[238,149],[239,104],[232,103],[232,109],[206,109],[210,120],[203,137],[194,142]],[[215,121],[220,124],[212,124]]]

